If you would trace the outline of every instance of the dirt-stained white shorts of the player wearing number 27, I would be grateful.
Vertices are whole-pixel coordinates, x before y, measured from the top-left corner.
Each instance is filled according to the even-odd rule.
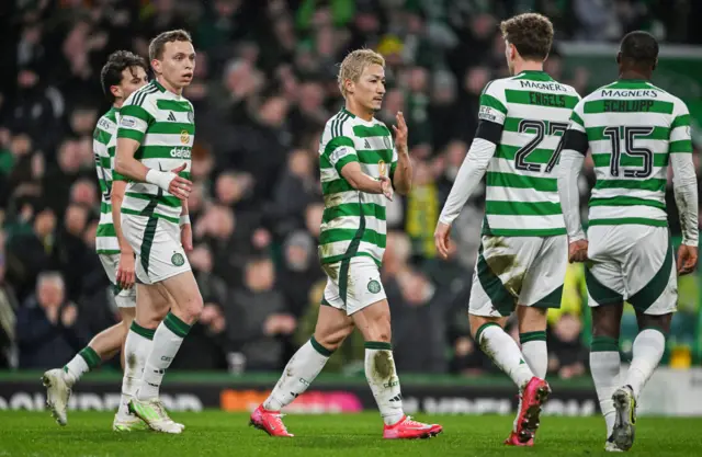
[[[561,308],[568,240],[483,236],[473,273],[468,312],[500,318],[517,305]]]

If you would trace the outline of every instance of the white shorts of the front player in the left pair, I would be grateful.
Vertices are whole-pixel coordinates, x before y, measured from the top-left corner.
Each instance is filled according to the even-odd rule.
[[[122,232],[136,254],[139,283],[156,284],[191,270],[178,224],[158,217],[123,214]]]

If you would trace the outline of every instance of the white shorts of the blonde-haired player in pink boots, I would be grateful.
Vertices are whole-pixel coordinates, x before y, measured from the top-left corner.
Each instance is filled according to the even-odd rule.
[[[322,305],[344,310],[347,316],[351,316],[386,298],[381,271],[371,258],[351,258],[321,267],[327,274]]]

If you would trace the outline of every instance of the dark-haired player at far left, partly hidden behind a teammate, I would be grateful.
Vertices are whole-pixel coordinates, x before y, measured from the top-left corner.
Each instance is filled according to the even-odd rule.
[[[42,380],[46,387],[46,401],[60,425],[66,425],[68,421],[66,407],[71,387],[83,374],[124,349],[136,312],[136,289],[133,287],[134,251],[124,240],[118,224],[113,224],[120,217],[120,206],[126,187],[124,178],[114,172],[114,156],[120,110],[133,92],[148,82],[146,62],[128,50],[117,50],[110,55],[107,62],[102,67],[100,82],[112,107],[100,117],[93,133],[95,170],[102,193],[95,250],[113,285],[122,322],[98,333],[63,369],[55,368],[44,374]],[[129,359],[131,356],[125,354],[125,351],[122,351],[122,354],[124,366],[125,359]],[[131,431],[141,422],[129,414],[127,409],[127,402],[138,387],[135,381],[139,377],[140,374],[134,372],[133,364],[126,364],[122,400],[112,425],[115,431]]]

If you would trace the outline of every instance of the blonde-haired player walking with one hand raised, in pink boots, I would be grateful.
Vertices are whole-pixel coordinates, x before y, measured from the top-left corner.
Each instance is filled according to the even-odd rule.
[[[327,122],[319,144],[325,198],[319,260],[327,286],[314,335],[251,414],[251,425],[272,436],[293,436],[281,409],[309,387],[354,328],[365,340],[365,377],[385,422],[383,437],[429,437],[442,431],[405,415],[393,361],[390,311],[380,273],[385,205],[393,185],[400,194],[410,191],[412,167],[403,113],[393,126],[395,146],[389,129],[374,117],[385,94],[384,66],[383,57],[370,49],[354,50],[341,62],[338,79],[346,106]]]

